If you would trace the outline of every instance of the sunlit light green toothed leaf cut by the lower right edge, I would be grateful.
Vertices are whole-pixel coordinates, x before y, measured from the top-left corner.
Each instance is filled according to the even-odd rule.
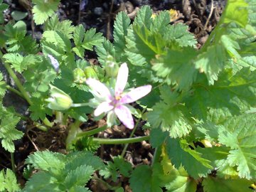
[[[244,114],[225,122],[226,130],[220,132],[219,142],[230,146],[228,163],[238,166],[240,178],[256,178],[255,114]]]

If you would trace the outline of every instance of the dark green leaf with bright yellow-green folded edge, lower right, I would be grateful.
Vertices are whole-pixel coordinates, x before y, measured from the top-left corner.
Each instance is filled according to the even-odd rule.
[[[195,149],[189,148],[188,143],[184,139],[166,139],[166,151],[169,159],[171,159],[171,163],[176,167],[183,165],[188,174],[193,176],[193,178],[206,176],[210,169],[213,169],[210,166],[210,161],[204,159],[202,154]]]

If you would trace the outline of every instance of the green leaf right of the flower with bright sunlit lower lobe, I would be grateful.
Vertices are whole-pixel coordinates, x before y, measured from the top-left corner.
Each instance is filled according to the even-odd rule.
[[[179,102],[178,93],[171,92],[169,87],[162,87],[160,93],[161,102],[147,114],[151,127],[160,127],[163,132],[169,132],[170,137],[183,137],[192,129],[189,116],[185,115],[186,108]]]

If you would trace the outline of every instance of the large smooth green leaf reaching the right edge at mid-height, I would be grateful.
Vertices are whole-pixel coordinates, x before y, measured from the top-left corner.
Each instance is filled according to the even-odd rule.
[[[240,114],[256,105],[256,71],[243,68],[233,74],[225,70],[215,85],[198,82],[191,95],[186,98],[186,106],[197,118],[206,119],[208,108],[227,110],[230,114]]]

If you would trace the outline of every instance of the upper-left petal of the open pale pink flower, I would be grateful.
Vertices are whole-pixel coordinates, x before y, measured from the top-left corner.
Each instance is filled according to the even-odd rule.
[[[93,91],[96,91],[100,96],[106,97],[107,100],[111,100],[112,96],[110,94],[110,90],[102,82],[92,78],[88,78],[85,82]]]

